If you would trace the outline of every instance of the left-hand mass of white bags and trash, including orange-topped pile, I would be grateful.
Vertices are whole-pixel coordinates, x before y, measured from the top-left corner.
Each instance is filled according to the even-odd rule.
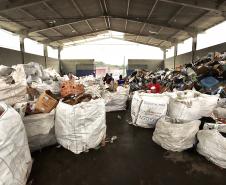
[[[129,97],[128,87],[110,90],[102,79],[60,76],[34,62],[1,65],[0,84],[3,184],[26,184],[30,151],[58,143],[80,154],[104,146],[106,112],[125,110]]]

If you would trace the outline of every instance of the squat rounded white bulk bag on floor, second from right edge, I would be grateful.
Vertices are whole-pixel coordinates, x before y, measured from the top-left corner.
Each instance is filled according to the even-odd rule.
[[[196,143],[200,124],[199,120],[180,122],[161,118],[156,124],[152,139],[166,150],[181,152]]]

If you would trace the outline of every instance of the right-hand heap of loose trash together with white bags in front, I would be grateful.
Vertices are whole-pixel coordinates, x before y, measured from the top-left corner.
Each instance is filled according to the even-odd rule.
[[[174,70],[135,70],[130,124],[154,128],[153,141],[166,150],[196,147],[226,168],[226,54],[214,53]]]

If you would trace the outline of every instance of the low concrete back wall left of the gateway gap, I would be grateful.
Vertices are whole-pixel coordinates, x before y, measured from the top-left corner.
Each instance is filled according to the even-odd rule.
[[[77,70],[91,70],[91,66],[94,69],[94,59],[62,60],[62,72],[64,74],[72,72],[76,75]]]

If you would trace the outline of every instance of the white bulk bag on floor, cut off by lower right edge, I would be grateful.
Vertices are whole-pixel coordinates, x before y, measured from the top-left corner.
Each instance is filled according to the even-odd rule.
[[[209,129],[208,126],[204,128]],[[197,152],[214,164],[226,168],[226,138],[217,129],[201,130],[197,136]]]

